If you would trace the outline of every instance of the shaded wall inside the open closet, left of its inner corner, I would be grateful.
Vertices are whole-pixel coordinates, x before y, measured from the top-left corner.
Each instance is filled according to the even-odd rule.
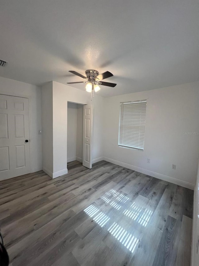
[[[67,121],[67,162],[72,162],[77,156],[77,104],[68,102]]]

